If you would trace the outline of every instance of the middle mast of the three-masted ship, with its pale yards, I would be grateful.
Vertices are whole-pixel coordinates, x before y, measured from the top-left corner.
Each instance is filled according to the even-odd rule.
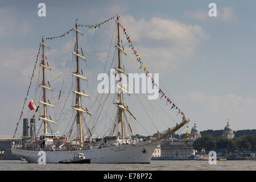
[[[76,44],[75,44],[76,52],[72,52],[72,53],[74,55],[76,55],[76,72],[73,73],[73,76],[76,77],[77,88],[75,91],[73,91],[74,93],[76,93],[76,106],[73,107],[73,109],[77,111],[76,123],[79,125],[79,140],[80,140],[80,147],[82,147],[82,141],[83,141],[83,138],[82,138],[82,113],[87,113],[87,114],[91,114],[91,113],[88,110],[84,110],[82,108],[81,96],[85,96],[85,97],[89,97],[89,96],[86,95],[85,93],[81,93],[80,78],[83,78],[84,80],[87,80],[87,78],[80,75],[79,57],[84,60],[86,60],[86,59],[84,56],[79,55],[79,44],[78,44],[78,35],[77,34],[78,33],[82,34],[82,32],[77,30],[77,23],[76,23],[76,28],[74,30],[76,31]]]

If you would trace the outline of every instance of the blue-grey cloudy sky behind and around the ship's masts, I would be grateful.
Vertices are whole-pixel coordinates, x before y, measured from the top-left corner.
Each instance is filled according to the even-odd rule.
[[[45,17],[38,16],[41,2],[46,4]],[[217,17],[208,15],[212,2]],[[189,129],[194,121],[201,131],[224,129],[228,119],[233,130],[256,129],[255,1],[0,3],[0,135],[14,133],[42,36],[67,32],[77,18],[81,24],[94,24],[117,13],[148,68],[159,73],[164,90],[191,119]],[[88,32],[84,42],[96,40],[96,34]],[[70,47],[68,41],[49,42],[57,59]],[[164,101],[159,104],[166,106]],[[139,115],[142,109],[135,108]],[[146,122],[143,117],[141,121]],[[154,133],[154,128],[149,130]]]

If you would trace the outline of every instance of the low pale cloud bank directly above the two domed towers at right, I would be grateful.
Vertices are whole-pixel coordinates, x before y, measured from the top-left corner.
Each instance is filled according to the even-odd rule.
[[[228,119],[233,130],[256,128],[255,122],[252,123],[256,98],[234,94],[207,96],[201,92],[193,92],[180,96],[178,100],[185,106],[183,109],[187,110],[187,117],[198,121],[201,130],[223,129]]]

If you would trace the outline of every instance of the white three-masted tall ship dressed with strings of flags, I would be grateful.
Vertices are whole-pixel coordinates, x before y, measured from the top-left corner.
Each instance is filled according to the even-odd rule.
[[[69,44],[71,45],[69,47],[72,48],[69,51],[72,59],[67,62],[70,64],[60,63],[60,65],[56,65],[55,63],[51,67],[50,59],[52,56],[51,53],[47,55],[49,46],[46,44],[46,40],[52,40],[52,38],[42,38],[36,59],[36,63],[39,59],[40,64],[35,64],[34,67],[34,71],[39,68],[37,69],[39,71],[37,84],[35,93],[31,96],[28,105],[30,108],[28,110],[29,114],[32,118],[38,119],[39,122],[34,122],[35,125],[30,126],[30,137],[23,137],[22,142],[13,143],[12,154],[26,159],[29,163],[39,162],[40,151],[45,152],[45,163],[72,160],[76,154],[84,154],[85,158],[90,159],[91,163],[150,163],[152,153],[160,142],[188,125],[189,119],[185,118],[185,115],[179,109],[177,114],[180,115],[181,121],[175,123],[175,126],[166,127],[162,132],[156,130],[155,134],[150,137],[139,138],[139,135],[134,135],[131,122],[137,122],[137,120],[131,112],[132,109],[125,103],[125,98],[130,97],[130,93],[126,89],[127,85],[123,84],[123,80],[128,74],[123,64],[125,59],[122,59],[122,57],[127,56],[127,53],[122,46],[125,40],[121,39],[121,31],[125,33],[123,37],[128,40],[129,48],[133,45],[131,45],[131,40],[119,18],[120,16],[117,14],[116,18],[113,16],[109,19],[115,23],[113,33],[115,35],[115,53],[108,72],[112,76],[120,75],[114,82],[117,92],[113,94],[111,92],[95,94],[97,91],[94,90],[92,93],[94,93],[95,102],[90,101],[91,97],[88,92],[86,93],[86,86],[84,86],[90,81],[96,81],[85,77],[86,72],[93,74],[93,71],[90,71],[90,67],[85,68],[84,66],[88,61],[85,58],[86,52],[84,53],[82,48],[79,47],[79,36],[84,35],[81,27],[95,29],[96,27],[102,27],[108,21],[96,25],[80,25],[77,24],[76,20],[75,27],[70,31],[61,36],[53,37],[53,39],[63,38],[73,32],[73,41]],[[132,51],[134,52],[134,49]],[[134,55],[137,57],[137,62],[141,63],[136,51]],[[84,69],[84,72],[82,69]],[[143,69],[146,70],[144,65]],[[34,77],[34,71],[31,80]],[[55,84],[56,86],[53,86]],[[28,90],[30,90],[30,86]],[[161,98],[164,95],[166,97],[166,94],[161,91],[159,88]],[[110,96],[114,98],[110,99]],[[108,99],[114,107],[112,110],[105,105]],[[26,100],[27,97],[25,103]],[[171,106],[170,109],[173,107],[175,109],[176,106],[170,99],[167,99],[167,102]],[[134,102],[133,104],[137,105]],[[94,109],[94,111],[92,112],[90,109]],[[102,113],[104,113],[103,117]],[[51,117],[51,115],[54,115],[54,117]],[[20,121],[22,117],[24,117],[23,110]],[[106,121],[104,131],[107,132],[102,135],[97,131],[100,120]],[[64,121],[68,122],[65,123]],[[63,134],[60,135],[60,131],[63,131]]]

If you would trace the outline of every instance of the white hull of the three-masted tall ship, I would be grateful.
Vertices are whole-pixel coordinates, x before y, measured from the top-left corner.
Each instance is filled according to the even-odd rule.
[[[160,141],[148,143],[148,141],[134,144],[122,144],[106,148],[77,151],[45,151],[46,163],[59,163],[61,160],[71,160],[77,153],[83,153],[91,163],[150,163],[152,154],[160,144]],[[29,163],[38,163],[39,151],[11,148],[11,152],[21,156]]]

